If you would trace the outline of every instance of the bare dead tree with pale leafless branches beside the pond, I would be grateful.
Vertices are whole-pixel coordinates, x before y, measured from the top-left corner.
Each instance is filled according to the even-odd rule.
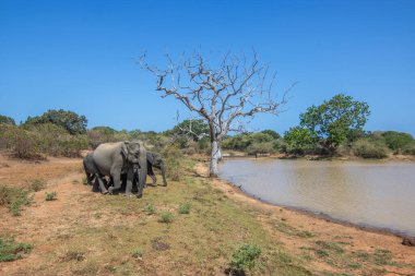
[[[259,62],[256,52],[249,60],[227,53],[217,65],[211,65],[199,52],[178,62],[166,55],[166,69],[150,65],[145,55],[140,63],[157,77],[156,89],[163,98],[174,96],[209,124],[211,177],[217,176],[221,141],[229,131],[244,131],[258,113],[278,115],[286,104],[286,93],[280,100],[272,94],[275,73]]]

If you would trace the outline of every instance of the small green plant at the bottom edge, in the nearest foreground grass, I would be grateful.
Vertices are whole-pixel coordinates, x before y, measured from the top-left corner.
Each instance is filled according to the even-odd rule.
[[[261,249],[254,244],[241,244],[234,251],[230,261],[230,268],[235,272],[248,269],[252,272],[257,266]]]

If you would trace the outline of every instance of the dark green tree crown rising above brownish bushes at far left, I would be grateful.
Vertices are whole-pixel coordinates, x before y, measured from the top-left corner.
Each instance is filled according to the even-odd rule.
[[[52,123],[62,127],[70,134],[84,134],[86,133],[87,120],[85,116],[79,116],[73,111],[50,109],[42,116],[28,117],[24,125],[42,123]]]

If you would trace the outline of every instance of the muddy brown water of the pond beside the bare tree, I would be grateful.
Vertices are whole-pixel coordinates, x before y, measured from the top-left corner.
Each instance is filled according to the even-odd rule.
[[[220,176],[263,201],[415,237],[415,164],[226,160]]]

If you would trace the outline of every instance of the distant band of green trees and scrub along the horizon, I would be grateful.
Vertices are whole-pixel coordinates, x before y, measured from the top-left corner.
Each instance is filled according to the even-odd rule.
[[[408,133],[363,130],[369,116],[366,103],[336,95],[300,115],[300,124],[280,135],[273,130],[228,135],[221,147],[229,152],[286,154],[295,156],[359,156],[384,158],[389,154],[415,155],[415,141]],[[209,127],[203,120],[185,120],[164,132],[116,131],[109,127],[86,128],[87,119],[67,110],[48,110],[28,117],[19,125],[0,116],[0,149],[19,158],[79,156],[100,143],[142,140],[157,152],[210,154]],[[171,154],[170,154],[171,155]],[[171,155],[173,156],[173,155]]]

